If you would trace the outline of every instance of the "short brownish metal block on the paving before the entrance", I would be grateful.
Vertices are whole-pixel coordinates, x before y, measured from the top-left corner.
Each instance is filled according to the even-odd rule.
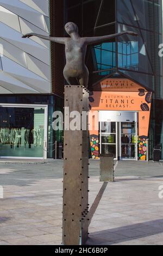
[[[112,154],[100,155],[99,181],[114,182],[114,155]]]

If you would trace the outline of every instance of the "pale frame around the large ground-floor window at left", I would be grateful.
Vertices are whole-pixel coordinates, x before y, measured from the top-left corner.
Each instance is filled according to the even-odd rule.
[[[43,139],[43,157],[17,157],[17,156],[0,156],[0,159],[47,159],[47,127],[48,127],[48,105],[39,104],[10,104],[10,103],[0,103],[0,107],[26,107],[26,108],[44,108],[45,109],[45,119],[44,119],[44,139]]]

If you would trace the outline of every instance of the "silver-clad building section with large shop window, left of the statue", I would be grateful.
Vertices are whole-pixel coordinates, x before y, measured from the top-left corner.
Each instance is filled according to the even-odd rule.
[[[51,58],[57,61],[56,50],[51,42],[35,36],[22,39],[23,34],[30,32],[55,35],[53,20],[57,10],[51,15],[54,8],[51,2],[0,1],[2,158],[52,158],[54,142],[62,139],[61,132],[55,133],[52,127],[54,110],[62,108],[64,88],[64,80],[60,78],[60,88],[56,72],[52,72],[55,62]]]

